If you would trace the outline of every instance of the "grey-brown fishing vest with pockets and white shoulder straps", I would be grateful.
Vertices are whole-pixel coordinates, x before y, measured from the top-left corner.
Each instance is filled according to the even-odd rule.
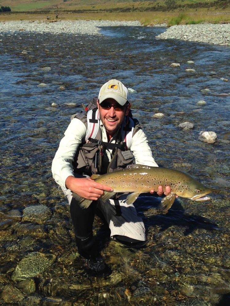
[[[100,128],[99,111],[97,108],[76,114],[74,118],[80,119],[86,126],[87,132],[81,145],[78,147],[73,170],[79,174],[105,174],[126,168],[133,163],[133,154],[130,150],[132,137],[140,128],[136,119],[125,117],[123,125],[117,134],[117,143],[103,142]],[[109,161],[106,149],[112,150]]]

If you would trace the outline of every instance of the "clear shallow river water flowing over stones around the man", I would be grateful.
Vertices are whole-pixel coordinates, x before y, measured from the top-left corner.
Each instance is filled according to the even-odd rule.
[[[220,80],[230,79],[230,48],[156,40],[164,30],[119,27],[103,28],[103,36],[92,37],[24,32],[0,36],[4,305],[229,302],[230,96],[217,95],[230,93],[230,81]],[[181,66],[171,68],[172,62]],[[216,75],[210,76],[212,71]],[[133,115],[157,163],[189,172],[213,193],[203,203],[178,198],[166,215],[158,211],[161,198],[139,197],[136,208],[147,231],[142,250],[110,241],[96,218],[94,232],[113,271],[97,278],[82,268],[67,201],[53,181],[51,163],[70,116],[110,78],[137,90],[131,95]],[[37,87],[40,83],[47,86]],[[201,93],[206,88],[211,92]],[[198,106],[199,100],[207,104]],[[57,107],[51,107],[53,102]],[[165,116],[152,118],[156,112]],[[194,123],[194,129],[180,130],[185,121]],[[202,130],[216,132],[217,142],[198,140]],[[32,213],[24,210],[29,206],[34,206]]]

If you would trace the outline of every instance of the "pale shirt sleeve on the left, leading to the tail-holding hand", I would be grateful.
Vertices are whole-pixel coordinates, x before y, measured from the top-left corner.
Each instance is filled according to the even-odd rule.
[[[59,148],[52,162],[52,173],[56,183],[60,185],[64,194],[66,194],[65,180],[68,176],[73,176],[72,161],[76,154],[78,146],[82,143],[86,135],[84,123],[74,118],[71,120],[64,137],[60,141]]]

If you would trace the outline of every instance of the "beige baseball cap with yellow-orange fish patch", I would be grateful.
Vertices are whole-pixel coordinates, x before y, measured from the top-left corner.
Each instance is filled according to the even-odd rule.
[[[125,105],[129,101],[128,89],[122,84],[121,81],[112,79],[105,83],[100,91],[98,100],[101,104],[104,100],[112,98],[116,100],[120,105]]]

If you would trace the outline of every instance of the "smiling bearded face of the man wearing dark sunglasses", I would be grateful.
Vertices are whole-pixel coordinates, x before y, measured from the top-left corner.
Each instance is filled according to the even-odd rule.
[[[97,103],[98,110],[100,112],[100,119],[103,123],[107,134],[114,135],[123,123],[124,118],[128,115],[130,110],[130,104],[124,108],[117,103],[114,99],[106,99],[101,104]],[[103,107],[111,106],[110,108],[104,109]],[[116,106],[118,107],[116,109]]]

